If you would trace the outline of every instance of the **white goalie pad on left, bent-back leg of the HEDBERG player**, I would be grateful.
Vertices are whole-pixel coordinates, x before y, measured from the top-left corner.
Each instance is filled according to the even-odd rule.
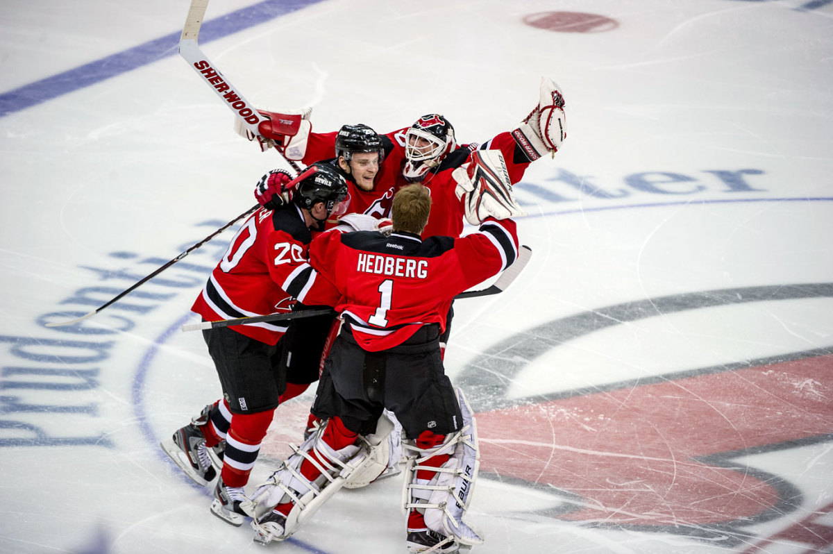
[[[252,529],[256,542],[266,545],[291,537],[327,499],[344,487],[354,473],[361,475],[365,467],[372,465],[376,459],[374,453],[380,445],[387,445],[387,437],[394,425],[382,415],[376,432],[361,436],[361,444],[352,444],[338,451],[333,451],[321,440],[326,428],[325,422],[301,447],[290,445],[295,452],[272,473],[267,482],[257,487],[252,494],[251,505],[244,507],[247,512],[255,514]],[[320,463],[312,458],[311,452],[315,452]],[[312,482],[301,473],[301,464],[305,460],[322,473]],[[272,509],[287,502],[292,502],[293,506],[286,519],[275,517]]]

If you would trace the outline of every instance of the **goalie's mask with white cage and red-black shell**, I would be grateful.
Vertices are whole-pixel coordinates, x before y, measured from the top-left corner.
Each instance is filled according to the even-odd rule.
[[[402,175],[409,182],[421,181],[456,146],[454,127],[445,117],[438,113],[420,117],[405,133],[407,162]]]

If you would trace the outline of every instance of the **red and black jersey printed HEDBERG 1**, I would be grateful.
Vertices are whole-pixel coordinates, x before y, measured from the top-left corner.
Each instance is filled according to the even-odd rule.
[[[422,325],[445,330],[454,297],[506,269],[517,248],[509,219],[487,219],[461,238],[325,232],[310,245],[310,264],[320,275],[302,302],[334,306],[362,348],[382,351]]]

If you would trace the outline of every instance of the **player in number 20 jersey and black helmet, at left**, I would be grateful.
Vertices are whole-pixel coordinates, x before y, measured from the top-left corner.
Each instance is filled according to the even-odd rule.
[[[259,208],[232,238],[192,306],[203,320],[272,313],[290,298],[302,296],[311,284],[311,229],[346,211],[347,177],[329,164],[313,163],[296,179],[285,181],[287,187],[294,190],[292,202],[274,210]],[[241,525],[247,515],[243,487],[286,387],[276,346],[286,329],[286,324],[264,322],[204,331],[222,398],[174,432],[172,440],[162,442],[167,455],[201,485],[216,476],[214,466],[219,463],[212,464],[212,453],[222,452],[211,509],[232,525]],[[315,382],[317,367],[314,375],[289,379]]]

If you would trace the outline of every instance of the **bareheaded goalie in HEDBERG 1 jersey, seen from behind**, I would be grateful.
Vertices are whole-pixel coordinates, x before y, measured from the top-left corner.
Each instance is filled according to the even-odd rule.
[[[452,298],[516,258],[509,217],[522,211],[508,182],[460,177],[466,215],[481,223],[478,232],[421,239],[431,197],[415,183],[394,197],[390,236],[327,232],[313,240],[317,277],[305,302],[335,306],[345,324],[312,407],[324,425],[252,495],[257,542],[286,540],[348,479],[367,471],[390,432],[385,408],[396,413],[416,452],[404,483],[409,552],[457,552],[482,542],[463,521],[479,463],[475,421],[445,376],[439,337]]]

